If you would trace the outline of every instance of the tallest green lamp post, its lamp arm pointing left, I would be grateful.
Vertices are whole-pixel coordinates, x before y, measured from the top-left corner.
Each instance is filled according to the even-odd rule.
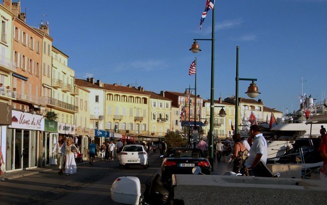
[[[211,39],[194,39],[194,43],[191,47],[193,53],[201,51],[200,46],[196,40],[209,40],[211,41],[211,92],[210,92],[210,134],[209,134],[209,161],[211,164],[211,169],[213,170],[213,102],[214,102],[214,71],[215,71],[215,7],[212,8],[212,31]]]

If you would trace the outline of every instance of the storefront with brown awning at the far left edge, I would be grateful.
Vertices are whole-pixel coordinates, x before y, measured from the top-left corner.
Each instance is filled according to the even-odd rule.
[[[0,102],[0,146],[4,160],[6,159],[6,134],[8,125],[12,124],[12,106]],[[6,171],[6,170],[3,170]]]

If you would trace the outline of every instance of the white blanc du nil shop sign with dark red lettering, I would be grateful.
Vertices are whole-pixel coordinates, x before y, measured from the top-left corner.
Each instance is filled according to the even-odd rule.
[[[9,127],[44,131],[44,118],[42,115],[12,110],[12,125]]]

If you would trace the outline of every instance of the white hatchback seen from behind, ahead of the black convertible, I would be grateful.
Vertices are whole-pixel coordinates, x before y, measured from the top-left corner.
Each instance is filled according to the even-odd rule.
[[[125,166],[142,166],[146,169],[149,166],[147,153],[142,145],[125,145],[120,153],[119,168]]]

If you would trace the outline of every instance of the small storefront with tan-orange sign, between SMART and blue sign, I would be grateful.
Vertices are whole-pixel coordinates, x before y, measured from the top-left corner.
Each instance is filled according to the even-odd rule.
[[[94,139],[94,129],[86,127],[75,127],[75,136],[78,139],[80,154],[83,154],[83,159],[88,159],[89,140]]]

